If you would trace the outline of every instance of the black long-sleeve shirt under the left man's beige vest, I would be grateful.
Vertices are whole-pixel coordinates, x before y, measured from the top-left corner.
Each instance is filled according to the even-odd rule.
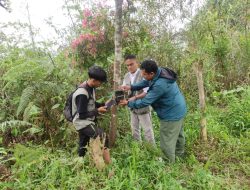
[[[87,86],[87,91],[90,96],[93,96],[93,88]],[[84,94],[80,94],[76,97],[76,107],[77,107],[77,112],[79,113],[79,119],[86,119],[89,117],[97,116],[98,111],[97,108],[104,106],[104,103],[98,103],[95,102],[95,107],[96,109],[94,111],[88,112],[88,97]]]

